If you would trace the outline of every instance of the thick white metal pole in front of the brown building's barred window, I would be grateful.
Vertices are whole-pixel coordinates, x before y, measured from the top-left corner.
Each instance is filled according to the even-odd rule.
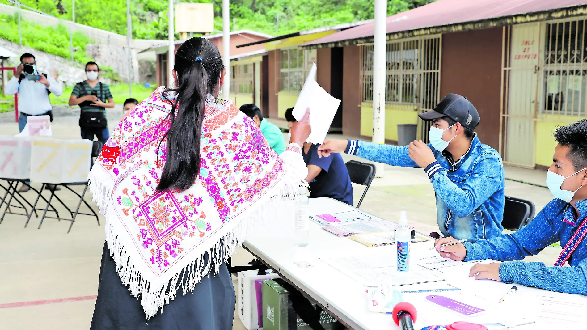
[[[373,142],[385,143],[385,54],[387,1],[375,0],[373,31]],[[383,177],[383,164],[376,164],[377,177]]]

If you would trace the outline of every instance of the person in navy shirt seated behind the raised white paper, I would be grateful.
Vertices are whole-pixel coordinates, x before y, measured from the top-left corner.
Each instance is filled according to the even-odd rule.
[[[293,110],[291,107],[285,111],[290,128],[296,122]],[[304,143],[302,150],[303,161],[308,166],[306,181],[310,184],[310,198],[330,197],[353,206],[353,186],[345,161],[339,153],[333,153],[333,157],[318,157],[318,146],[320,144]]]

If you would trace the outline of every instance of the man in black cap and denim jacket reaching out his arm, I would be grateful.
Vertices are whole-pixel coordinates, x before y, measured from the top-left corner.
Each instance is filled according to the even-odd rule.
[[[448,94],[433,110],[419,117],[431,121],[430,144],[416,140],[409,146],[389,146],[361,140],[324,140],[321,156],[331,152],[393,166],[421,167],[436,192],[437,223],[441,233],[470,242],[501,234],[504,214],[504,169],[497,150],[474,133],[477,109],[466,97]]]

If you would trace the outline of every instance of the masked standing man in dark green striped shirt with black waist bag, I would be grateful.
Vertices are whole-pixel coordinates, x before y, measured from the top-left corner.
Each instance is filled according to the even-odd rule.
[[[80,107],[79,127],[82,139],[98,141],[105,144],[110,137],[106,119],[106,108],[114,107],[110,88],[98,81],[100,68],[96,62],[87,62],[87,80],[77,83],[69,97],[69,105]]]

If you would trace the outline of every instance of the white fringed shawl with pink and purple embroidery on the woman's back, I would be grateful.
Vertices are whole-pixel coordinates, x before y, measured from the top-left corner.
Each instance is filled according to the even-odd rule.
[[[194,185],[155,191],[166,143],[157,147],[170,127],[163,91],[124,116],[89,174],[93,199],[106,215],[110,254],[123,284],[141,295],[147,319],[174,298],[183,280],[185,294],[212,268],[217,274],[251,225],[278,215],[279,203],[291,203],[281,196],[295,192],[307,174],[297,144],[278,157],[232,102],[209,103]]]

